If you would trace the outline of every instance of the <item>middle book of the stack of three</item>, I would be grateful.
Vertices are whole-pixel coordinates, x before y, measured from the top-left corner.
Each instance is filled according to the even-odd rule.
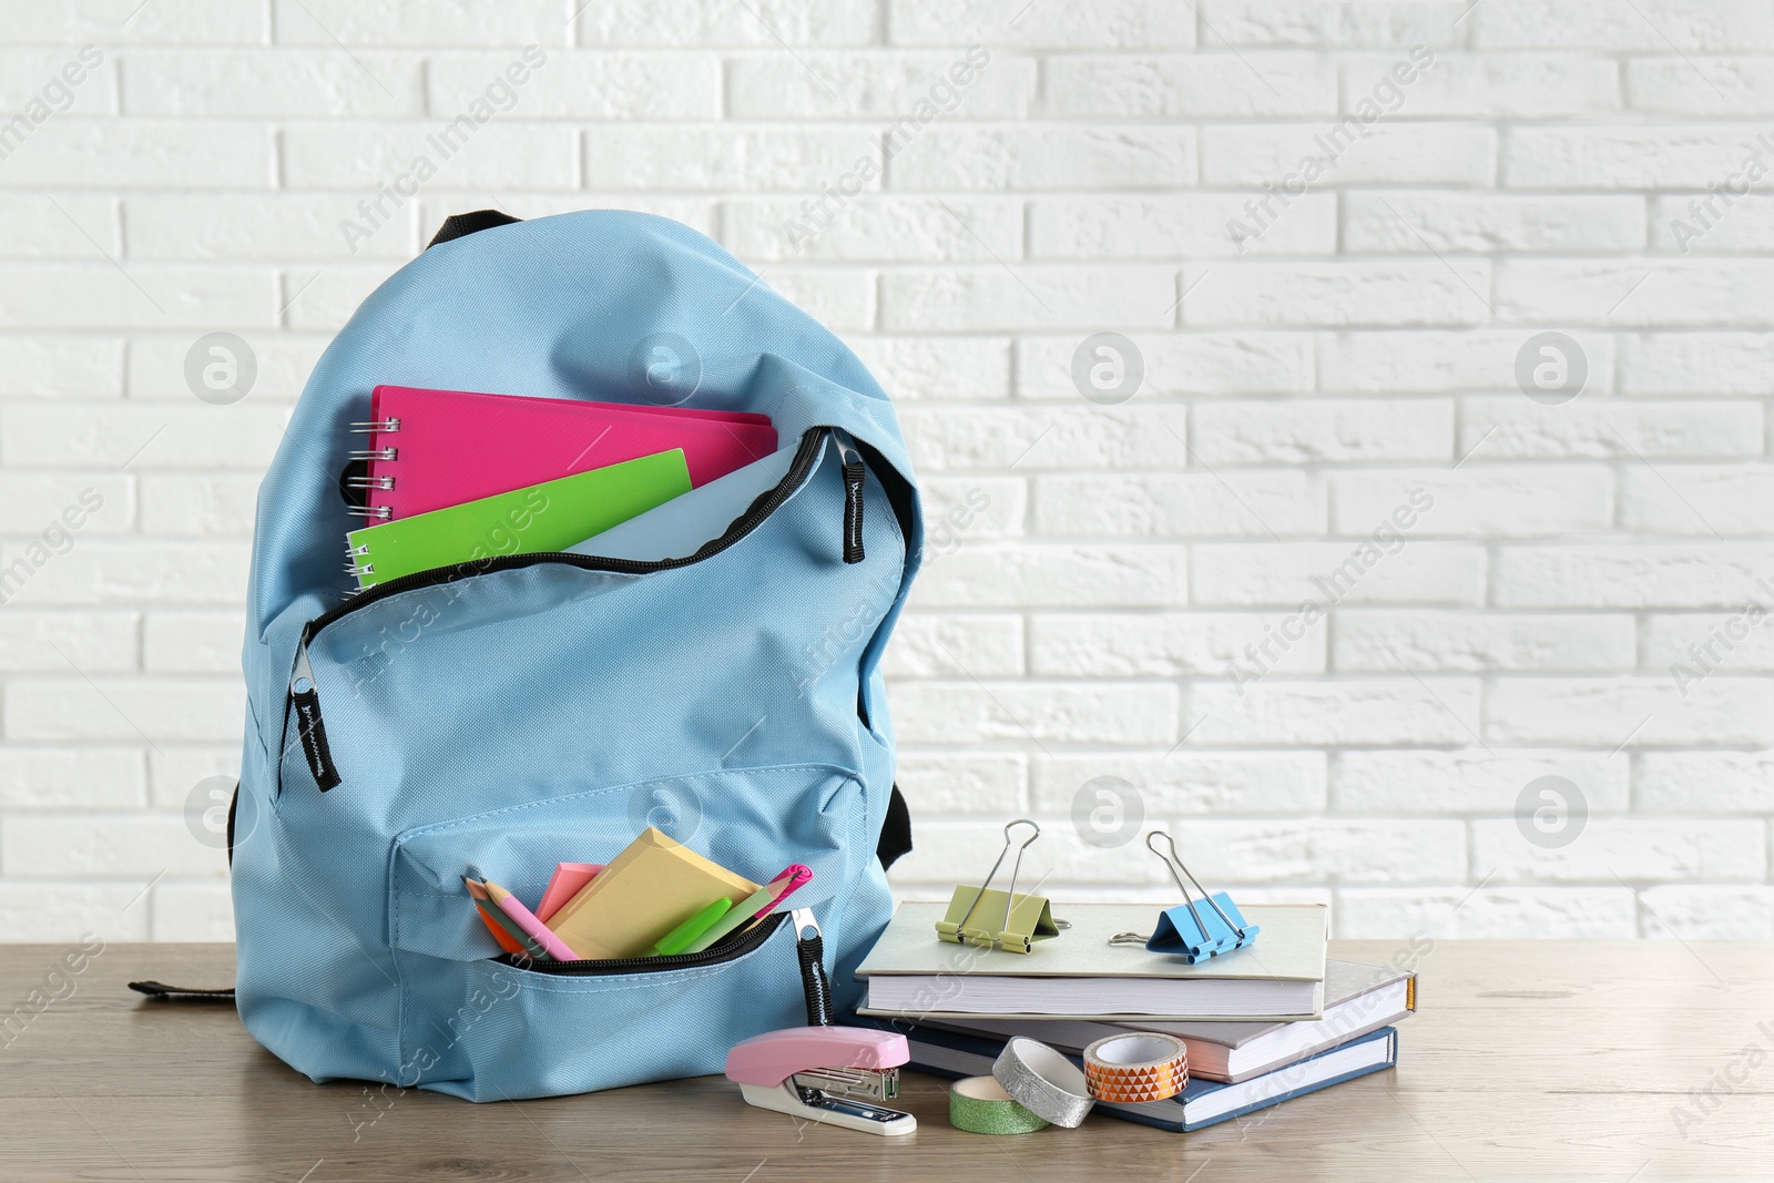
[[[1189,1075],[1238,1084],[1276,1068],[1327,1052],[1380,1027],[1393,1027],[1417,1009],[1417,979],[1410,970],[1354,961],[1325,963],[1325,1015],[1291,1023],[1167,1023],[1158,1020],[1098,1023],[1071,1018],[954,1018],[926,1020],[970,1034],[1008,1039],[1027,1036],[1063,1052],[1125,1030],[1157,1030],[1189,1045]]]

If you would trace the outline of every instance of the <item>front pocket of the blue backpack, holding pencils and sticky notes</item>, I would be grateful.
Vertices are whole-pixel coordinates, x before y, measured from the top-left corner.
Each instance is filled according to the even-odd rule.
[[[687,846],[752,881],[786,860],[812,867],[797,908],[837,912],[825,905],[873,857],[862,784],[820,766],[612,786],[404,832],[389,862],[397,1084],[500,1100],[701,1075],[718,1071],[733,1043],[805,1022],[793,924],[781,913],[703,954],[527,963],[500,952],[461,876],[472,869],[534,905],[555,862],[608,862],[649,803],[694,827],[679,834]]]

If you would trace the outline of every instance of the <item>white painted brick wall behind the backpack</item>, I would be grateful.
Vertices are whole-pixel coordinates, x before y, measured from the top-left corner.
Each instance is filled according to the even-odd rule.
[[[511,110],[348,250],[527,44]],[[1073,828],[1114,777],[1215,885],[1348,936],[1774,936],[1774,630],[1740,619],[1774,608],[1769,181],[1694,215],[1774,168],[1767,4],[0,0],[20,112],[0,940],[229,935],[184,816],[238,761],[257,477],[330,333],[481,206],[703,229],[901,401],[933,530],[887,665],[903,894],[1032,814],[1052,894],[1166,896]],[[215,330],[259,362],[232,406],[183,378]],[[1116,406],[1071,380],[1105,330],[1144,360]],[[1547,330],[1572,401],[1519,387]],[[1581,828],[1535,830],[1543,777]]]

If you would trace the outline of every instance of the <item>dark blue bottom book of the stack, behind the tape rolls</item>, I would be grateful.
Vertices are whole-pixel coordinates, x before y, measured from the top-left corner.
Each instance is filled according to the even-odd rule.
[[[859,1022],[883,1029],[887,1025],[887,1020]],[[977,1077],[990,1071],[993,1061],[1006,1046],[999,1039],[963,1036],[953,1030],[907,1025],[903,1022],[894,1022],[892,1030],[907,1036],[912,1052],[912,1068],[940,1077]],[[1073,1064],[1080,1062],[1080,1057],[1066,1055],[1064,1059]],[[1095,1112],[1185,1133],[1279,1105],[1306,1093],[1318,1093],[1320,1089],[1329,1089],[1357,1077],[1384,1071],[1394,1064],[1398,1064],[1398,1030],[1394,1027],[1380,1027],[1327,1052],[1320,1052],[1311,1059],[1240,1084],[1221,1084],[1217,1080],[1190,1077],[1189,1085],[1169,1100],[1095,1101]]]

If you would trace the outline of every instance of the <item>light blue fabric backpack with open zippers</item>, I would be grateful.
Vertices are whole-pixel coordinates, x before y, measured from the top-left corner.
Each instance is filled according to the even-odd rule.
[[[502,555],[349,594],[341,468],[380,383],[763,411],[782,475],[667,559]],[[465,873],[534,903],[648,825],[756,881],[811,866],[795,903],[852,1002],[910,848],[880,658],[919,543],[887,396],[726,250],[637,213],[452,218],[326,349],[259,490],[247,1029],[314,1080],[491,1101],[720,1071],[807,1022],[788,917],[708,954],[500,954]]]

